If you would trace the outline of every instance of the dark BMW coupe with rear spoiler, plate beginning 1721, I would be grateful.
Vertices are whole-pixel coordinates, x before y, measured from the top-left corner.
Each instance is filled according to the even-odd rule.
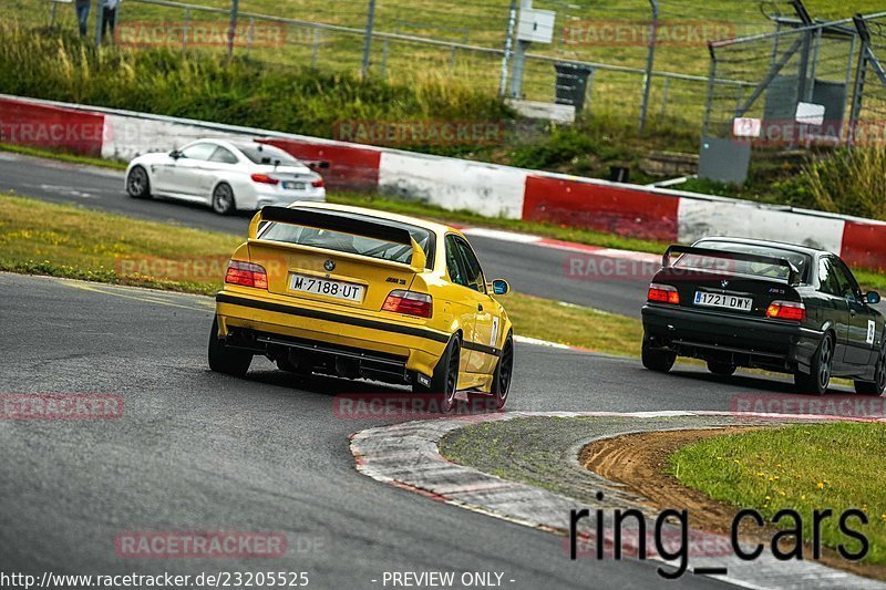
[[[883,315],[849,268],[825,250],[774,241],[705,238],[671,246],[643,306],[642,362],[668,372],[677,356],[791,373],[800,393],[821,395],[831,377],[855,391],[886,389]]]

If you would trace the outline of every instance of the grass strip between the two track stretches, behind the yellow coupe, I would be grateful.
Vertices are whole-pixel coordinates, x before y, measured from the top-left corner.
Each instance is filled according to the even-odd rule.
[[[227,234],[0,195],[4,271],[214,294],[241,241]],[[518,334],[637,354],[639,320],[521,293],[507,296],[504,304]]]

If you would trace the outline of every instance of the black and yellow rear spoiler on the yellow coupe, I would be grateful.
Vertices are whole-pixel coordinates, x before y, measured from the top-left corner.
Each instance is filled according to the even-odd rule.
[[[353,236],[390,241],[391,244],[402,244],[403,246],[412,248],[412,258],[409,266],[412,267],[415,272],[421,272],[427,266],[427,257],[424,250],[419,246],[419,242],[415,241],[412,235],[403,228],[388,226],[368,219],[356,219],[353,217],[336,215],[331,211],[271,206],[265,207],[253,217],[253,220],[249,222],[249,239],[258,239],[258,231],[261,225],[269,221],[339,231],[341,234],[351,234]]]

